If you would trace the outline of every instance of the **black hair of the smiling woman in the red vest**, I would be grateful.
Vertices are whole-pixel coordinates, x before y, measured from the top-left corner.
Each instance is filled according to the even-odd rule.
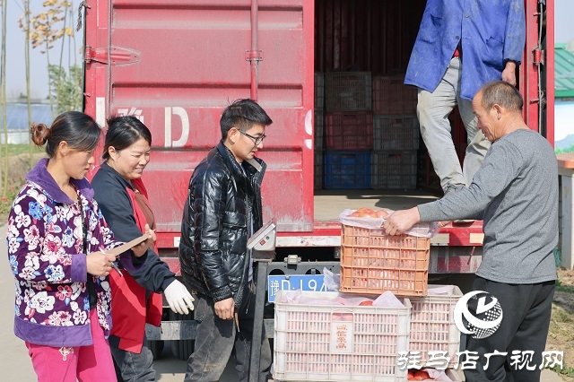
[[[104,161],[109,160],[109,147],[113,146],[117,151],[121,151],[144,139],[150,146],[152,145],[152,133],[143,122],[134,116],[110,117],[108,119],[108,133],[104,143],[104,152],[101,157]]]

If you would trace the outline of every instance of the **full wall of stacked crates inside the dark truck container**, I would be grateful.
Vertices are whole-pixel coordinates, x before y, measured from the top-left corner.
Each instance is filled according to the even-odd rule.
[[[403,80],[315,74],[315,188],[416,187],[416,88]]]

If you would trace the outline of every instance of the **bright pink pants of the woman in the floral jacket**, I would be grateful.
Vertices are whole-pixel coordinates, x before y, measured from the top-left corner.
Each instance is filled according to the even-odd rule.
[[[38,382],[116,381],[108,340],[98,323],[96,309],[90,311],[93,345],[56,348],[26,342]]]

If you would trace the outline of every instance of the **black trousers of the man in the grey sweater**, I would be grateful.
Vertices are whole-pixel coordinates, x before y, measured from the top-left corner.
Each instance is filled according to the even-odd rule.
[[[546,345],[555,282],[507,284],[476,277],[474,291],[491,293],[500,302],[502,322],[483,339],[467,337],[466,350],[477,352],[476,368],[465,369],[467,382],[539,382],[542,352]],[[469,307],[472,311],[472,308]],[[506,357],[484,354],[508,352]],[[513,351],[518,351],[513,354]],[[532,353],[534,352],[534,353]],[[532,354],[532,358],[531,357]],[[514,358],[514,360],[513,360]],[[465,360],[461,355],[460,361]]]

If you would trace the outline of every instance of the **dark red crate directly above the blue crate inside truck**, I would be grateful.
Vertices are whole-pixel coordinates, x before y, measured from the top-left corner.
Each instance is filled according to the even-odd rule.
[[[372,150],[370,113],[330,113],[325,116],[327,150]]]

